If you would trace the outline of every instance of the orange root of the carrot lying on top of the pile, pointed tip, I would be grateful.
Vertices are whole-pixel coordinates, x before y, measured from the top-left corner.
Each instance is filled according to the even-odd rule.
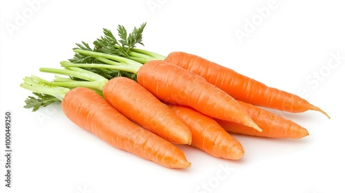
[[[148,61],[139,69],[137,81],[166,103],[189,106],[213,118],[261,130],[233,97],[178,65]]]

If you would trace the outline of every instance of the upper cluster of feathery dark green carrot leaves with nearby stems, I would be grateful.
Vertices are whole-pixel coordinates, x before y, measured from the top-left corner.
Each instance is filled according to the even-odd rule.
[[[124,26],[119,25],[117,28],[117,34],[119,39],[108,29],[103,28],[103,36],[96,39],[93,42],[94,48],[85,41],[76,43],[77,47],[73,48],[75,55],[72,59],[68,59],[70,63],[95,63],[95,64],[110,64],[110,65],[128,65],[128,68],[110,69],[110,68],[95,68],[95,67],[81,67],[83,70],[88,70],[96,74],[100,74],[106,79],[112,77],[128,77],[130,79],[137,79],[136,72],[137,68],[141,66],[139,61],[130,59],[130,52],[132,48],[135,48],[137,43],[142,43],[142,34],[146,23],[141,24],[139,28],[133,28],[132,32],[128,33]],[[144,54],[133,52],[136,57],[143,58],[147,57],[146,60],[151,59]],[[138,54],[140,54],[138,56]],[[143,61],[141,61],[143,62]],[[121,70],[123,69],[123,70]],[[130,70],[128,70],[130,69]],[[73,80],[80,80],[78,77],[71,77]]]

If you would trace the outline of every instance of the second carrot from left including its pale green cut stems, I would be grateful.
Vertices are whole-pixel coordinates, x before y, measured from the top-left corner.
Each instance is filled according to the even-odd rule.
[[[62,62],[63,64],[63,62]],[[88,81],[55,79],[50,83],[59,86],[92,88],[103,92],[103,96],[117,111],[141,127],[177,144],[190,144],[192,134],[188,127],[164,103],[126,77],[107,79],[80,68],[54,69],[40,68],[41,72],[64,74]]]

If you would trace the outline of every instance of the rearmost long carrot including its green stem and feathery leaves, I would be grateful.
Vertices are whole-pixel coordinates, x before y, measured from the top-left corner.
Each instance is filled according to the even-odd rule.
[[[250,79],[243,74],[239,74],[234,70],[208,61],[195,54],[171,52],[168,54],[168,57],[166,57],[155,52],[135,48],[135,43],[143,45],[143,43],[141,43],[141,33],[145,26],[146,23],[141,25],[140,30],[135,31],[135,36],[130,36],[137,37],[135,40],[131,39],[130,43],[127,43],[128,38],[126,33],[123,33],[126,32],[126,30],[122,30],[124,29],[123,26],[119,26],[118,30],[121,41],[117,41],[110,30],[104,29],[104,37],[94,42],[96,45],[94,51],[122,55],[139,63],[147,63],[152,60],[165,60],[204,77],[206,81],[221,88],[221,90],[224,90],[239,101],[286,112],[316,110],[325,114],[328,119],[330,118],[326,112],[295,94],[268,87],[264,83]],[[88,50],[92,49],[88,48]]]

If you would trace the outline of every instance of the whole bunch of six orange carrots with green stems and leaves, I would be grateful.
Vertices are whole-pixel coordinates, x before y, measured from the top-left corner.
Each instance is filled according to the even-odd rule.
[[[172,168],[190,167],[176,144],[193,145],[224,159],[238,160],[244,148],[230,133],[300,139],[301,125],[264,110],[316,110],[308,101],[250,79],[195,54],[163,56],[136,48],[146,23],[128,33],[118,26],[93,42],[77,43],[62,68],[40,68],[55,74],[48,81],[25,77],[25,108],[38,110],[61,102],[70,121],[103,141]],[[264,108],[260,108],[264,107]]]

